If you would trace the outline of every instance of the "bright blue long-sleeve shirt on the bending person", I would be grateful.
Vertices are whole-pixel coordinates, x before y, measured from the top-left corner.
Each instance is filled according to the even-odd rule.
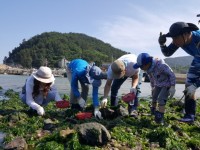
[[[78,90],[78,81],[85,84],[90,84],[87,80],[86,75],[89,73],[89,64],[83,59],[74,59],[70,62],[68,65],[71,74],[72,74],[72,80],[71,80],[71,88],[73,90],[75,97],[80,97],[81,94]],[[99,106],[98,101],[98,87],[93,86],[92,91],[92,100],[94,106]]]

